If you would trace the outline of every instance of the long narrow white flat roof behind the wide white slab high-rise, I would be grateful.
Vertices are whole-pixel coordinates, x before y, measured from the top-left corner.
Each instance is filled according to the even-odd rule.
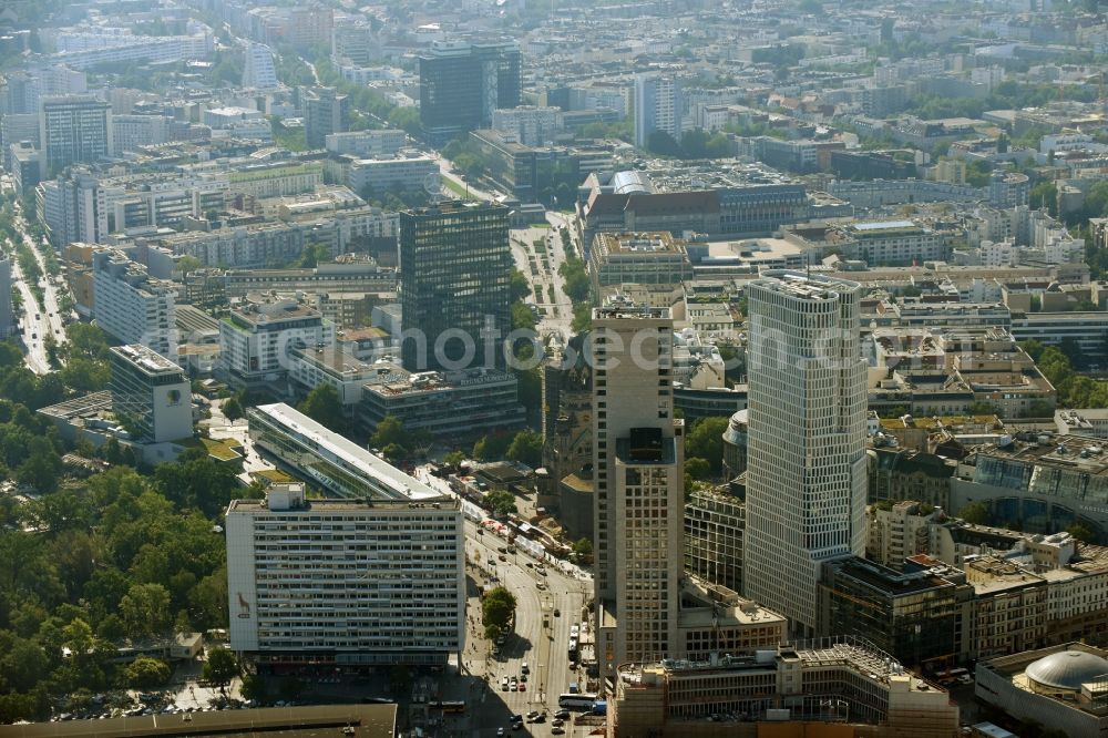
[[[263,404],[253,409],[269,422],[299,435],[315,448],[339,459],[359,472],[369,482],[367,494],[377,493],[386,500],[441,500],[443,495],[413,476],[409,476],[383,459],[373,455],[343,435],[327,430],[302,412],[284,402]]]

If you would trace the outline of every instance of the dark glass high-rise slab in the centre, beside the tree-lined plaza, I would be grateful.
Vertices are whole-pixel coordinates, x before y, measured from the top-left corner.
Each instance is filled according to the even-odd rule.
[[[400,214],[403,329],[425,336],[423,346],[406,336],[406,369],[460,368],[455,362],[503,367],[502,346],[511,330],[507,213],[492,203],[449,201]],[[463,334],[474,350],[469,361]]]

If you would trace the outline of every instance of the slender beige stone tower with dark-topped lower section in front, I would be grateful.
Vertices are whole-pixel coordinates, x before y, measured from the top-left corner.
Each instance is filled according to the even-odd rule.
[[[593,311],[597,659],[680,656],[684,421],[674,419],[668,308]]]

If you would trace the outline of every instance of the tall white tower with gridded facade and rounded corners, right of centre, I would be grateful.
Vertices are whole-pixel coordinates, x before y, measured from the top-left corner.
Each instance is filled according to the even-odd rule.
[[[745,594],[809,636],[821,563],[865,550],[860,288],[771,270],[747,289]]]

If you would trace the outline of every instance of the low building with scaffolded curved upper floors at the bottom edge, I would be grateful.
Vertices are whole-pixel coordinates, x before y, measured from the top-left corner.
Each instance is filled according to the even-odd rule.
[[[765,720],[868,724],[866,735],[905,738],[958,730],[958,708],[944,690],[859,638],[803,642],[752,657],[624,664],[607,715],[608,735],[618,738],[704,735],[707,724],[719,721],[738,731],[740,724]]]

